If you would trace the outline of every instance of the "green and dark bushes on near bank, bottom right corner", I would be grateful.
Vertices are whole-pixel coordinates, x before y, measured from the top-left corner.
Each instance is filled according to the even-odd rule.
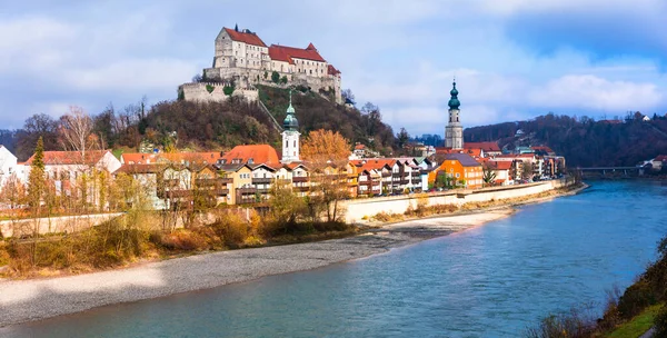
[[[527,338],[667,337],[667,237],[658,245],[658,259],[623,294],[608,292],[601,318],[574,309],[544,318],[527,329]]]

